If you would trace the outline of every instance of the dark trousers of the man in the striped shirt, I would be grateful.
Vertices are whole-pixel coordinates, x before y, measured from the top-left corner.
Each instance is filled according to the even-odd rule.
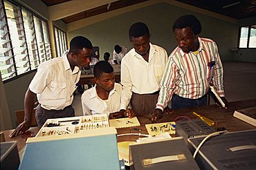
[[[207,95],[200,97],[199,99],[187,99],[180,97],[179,95],[172,95],[172,110],[179,108],[188,108],[196,106],[206,106],[207,105]]]

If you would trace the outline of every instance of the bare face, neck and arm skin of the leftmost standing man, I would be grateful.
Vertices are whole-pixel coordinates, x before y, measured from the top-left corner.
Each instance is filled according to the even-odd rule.
[[[84,67],[84,66],[89,66],[90,64],[90,58],[91,58],[91,52],[92,50],[89,48],[83,48],[80,50],[80,53],[75,54],[75,53],[68,53],[68,62],[71,66],[71,70],[74,70],[75,66],[79,67]],[[25,109],[25,115],[24,115],[24,122],[19,124],[15,131],[13,131],[9,136],[10,138],[15,137],[19,134],[23,134],[28,129],[30,129],[31,122],[32,122],[32,113],[33,113],[33,108],[35,104],[35,100],[37,98],[37,95],[28,90],[26,91],[25,98],[24,98],[24,109]]]

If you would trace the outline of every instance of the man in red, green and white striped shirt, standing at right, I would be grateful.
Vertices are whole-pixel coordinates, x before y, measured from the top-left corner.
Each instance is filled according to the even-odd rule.
[[[172,51],[161,81],[161,91],[152,121],[163,115],[172,99],[172,110],[205,106],[210,84],[228,104],[223,88],[223,68],[214,41],[199,37],[201,23],[193,15],[174,22],[173,32],[178,46]]]

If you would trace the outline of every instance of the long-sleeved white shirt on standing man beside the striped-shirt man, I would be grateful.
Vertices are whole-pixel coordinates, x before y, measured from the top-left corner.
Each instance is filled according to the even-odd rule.
[[[149,62],[132,48],[121,63],[121,84],[123,85],[121,109],[126,109],[132,92],[154,93],[160,89],[160,82],[167,62],[166,50],[149,44]]]

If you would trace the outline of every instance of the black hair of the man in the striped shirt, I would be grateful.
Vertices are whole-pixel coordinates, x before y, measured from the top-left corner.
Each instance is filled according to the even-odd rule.
[[[194,17],[194,15],[183,15],[176,19],[174,25],[172,26],[172,32],[176,28],[187,28],[190,27],[194,34],[201,33],[202,27],[200,21]]]

